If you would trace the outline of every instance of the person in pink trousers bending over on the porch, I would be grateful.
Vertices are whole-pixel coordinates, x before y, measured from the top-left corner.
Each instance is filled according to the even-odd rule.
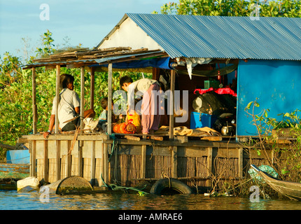
[[[157,92],[160,91],[158,81],[142,78],[133,82],[129,76],[123,76],[120,78],[120,86],[127,92],[127,111],[129,114],[134,114],[134,92],[141,91],[144,93],[141,104],[142,134],[153,134],[155,130],[158,130],[160,123],[160,99],[155,99]]]

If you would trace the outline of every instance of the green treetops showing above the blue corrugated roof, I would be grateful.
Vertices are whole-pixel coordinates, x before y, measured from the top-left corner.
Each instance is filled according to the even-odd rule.
[[[260,8],[261,17],[300,18],[300,0],[277,1],[245,1],[245,0],[179,0],[179,3],[169,2],[161,7],[162,14],[179,15],[221,15],[250,16],[255,5]],[[154,11],[153,13],[158,13]]]

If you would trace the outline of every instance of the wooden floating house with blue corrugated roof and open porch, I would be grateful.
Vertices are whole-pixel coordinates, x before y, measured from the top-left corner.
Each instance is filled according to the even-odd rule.
[[[241,137],[257,135],[251,118],[244,111],[247,104],[258,98],[260,109],[270,109],[269,116],[300,108],[300,31],[300,18],[252,20],[248,17],[127,13],[93,50],[37,59],[24,67],[33,71],[34,134],[24,137],[30,146],[31,175],[48,182],[78,175],[95,187],[104,186],[104,183],[135,186],[139,181],[155,181],[166,176],[188,186],[206,187],[212,186],[213,176],[243,179],[250,158],[255,165],[265,163],[262,155],[239,142]],[[169,106],[179,109],[180,116],[169,116],[167,132],[155,132],[155,137],[162,137],[160,140],[137,134],[132,135],[139,138],[135,141],[127,134],[113,135],[109,104],[106,133],[86,134],[83,120],[80,133],[62,133],[56,120],[55,134],[44,139],[43,134],[36,131],[35,69],[38,66],[57,69],[57,100],[60,67],[79,68],[80,108],[84,108],[85,69],[89,69],[92,80],[91,108],[97,71],[109,74],[109,102],[114,69],[151,72],[153,79],[161,80],[165,90],[173,93]],[[174,99],[175,90],[187,91],[188,100]],[[202,98],[208,93],[217,98],[223,96],[228,104],[221,103],[218,98],[218,106],[213,105]],[[195,117],[195,112],[207,115],[202,117],[201,127],[205,120],[213,123],[214,116],[230,113],[235,120],[235,125],[232,124],[235,132],[232,137],[204,130],[196,132],[197,126],[192,124],[194,121],[200,123],[200,116]],[[177,122],[184,114],[188,115],[188,120]],[[183,134],[183,127],[190,131]],[[268,155],[272,157],[272,151]],[[227,171],[223,169],[225,160],[230,160],[231,165]]]

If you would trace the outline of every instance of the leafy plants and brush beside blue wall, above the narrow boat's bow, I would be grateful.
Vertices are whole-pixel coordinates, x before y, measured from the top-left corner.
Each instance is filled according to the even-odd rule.
[[[269,110],[263,109],[260,114],[254,114],[254,108],[259,107],[257,99],[246,106],[246,113],[252,116],[253,124],[258,129],[260,139],[252,141],[251,147],[258,154],[267,155],[265,146],[272,147],[273,160],[269,165],[274,167],[281,179],[288,181],[301,180],[301,118],[299,109],[292,112],[280,113],[280,118],[269,118]],[[251,110],[251,111],[250,111]],[[271,149],[271,148],[270,148]]]

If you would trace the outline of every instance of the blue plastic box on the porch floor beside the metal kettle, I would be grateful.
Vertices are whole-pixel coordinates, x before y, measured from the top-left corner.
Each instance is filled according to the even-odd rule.
[[[190,129],[199,127],[212,128],[216,122],[216,116],[207,113],[191,112],[190,114]]]

